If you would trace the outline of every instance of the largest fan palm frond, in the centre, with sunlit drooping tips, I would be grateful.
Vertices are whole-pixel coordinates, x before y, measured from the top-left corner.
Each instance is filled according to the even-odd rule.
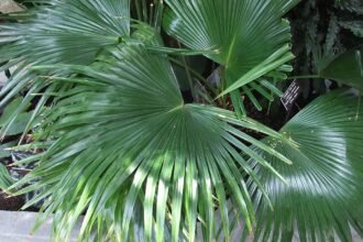
[[[46,152],[21,162],[36,161],[37,166],[13,188],[29,180],[35,184],[19,194],[46,188],[28,206],[46,198],[43,217],[55,212],[55,231],[62,240],[86,210],[82,240],[96,231],[100,241],[110,237],[125,241],[142,231],[146,241],[153,234],[157,241],[177,241],[182,234],[194,241],[199,219],[202,237],[211,241],[215,207],[227,208],[227,197],[252,228],[253,205],[240,168],[254,173],[238,151],[273,173],[244,142],[289,161],[238,128],[282,135],[229,111],[184,105],[166,56],[144,48],[144,43],[161,44],[160,38],[145,25],[139,29],[132,38],[106,48],[91,66],[37,67],[46,73],[62,69],[66,77],[48,81],[75,86],[58,90],[62,99],[50,113],[43,112],[34,146]],[[229,238],[226,209],[221,217]]]

